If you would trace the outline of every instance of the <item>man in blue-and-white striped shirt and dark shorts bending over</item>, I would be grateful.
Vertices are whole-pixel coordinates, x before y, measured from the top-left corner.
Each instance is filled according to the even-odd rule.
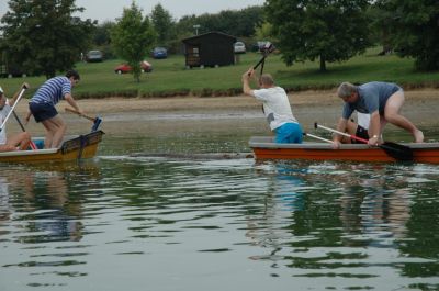
[[[29,102],[30,114],[37,123],[43,123],[46,130],[44,148],[57,148],[63,142],[67,126],[64,120],[58,115],[55,105],[60,100],[66,100],[76,111],[83,113],[75,101],[71,89],[80,80],[76,70],[67,71],[66,76],[54,77],[44,82]]]

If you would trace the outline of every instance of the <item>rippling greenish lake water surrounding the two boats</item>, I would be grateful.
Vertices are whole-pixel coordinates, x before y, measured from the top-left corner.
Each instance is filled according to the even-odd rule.
[[[122,122],[95,159],[0,166],[1,291],[439,289],[438,166],[204,158],[264,124]]]

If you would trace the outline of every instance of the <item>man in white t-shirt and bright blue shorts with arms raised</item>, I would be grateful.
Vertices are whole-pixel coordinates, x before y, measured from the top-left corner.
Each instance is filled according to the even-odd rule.
[[[269,74],[260,76],[260,89],[254,90],[250,88],[250,79],[252,77],[255,77],[252,68],[243,75],[243,92],[262,102],[262,110],[270,130],[275,133],[274,142],[302,143],[303,130],[293,115],[285,90],[275,86],[273,78]]]

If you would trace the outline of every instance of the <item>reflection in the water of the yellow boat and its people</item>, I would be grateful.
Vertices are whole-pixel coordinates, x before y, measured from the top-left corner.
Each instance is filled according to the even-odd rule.
[[[41,164],[1,171],[0,217],[20,223],[26,234],[15,236],[16,243],[81,239],[83,198],[71,190],[75,186],[68,181],[69,176],[80,174],[87,179],[99,179],[99,168],[92,161]]]

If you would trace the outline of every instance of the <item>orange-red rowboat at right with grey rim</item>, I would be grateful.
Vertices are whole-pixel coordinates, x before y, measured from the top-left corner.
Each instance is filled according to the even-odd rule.
[[[413,150],[414,163],[439,164],[439,143],[402,143]],[[256,159],[305,159],[392,163],[397,161],[380,147],[344,144],[334,149],[329,143],[277,144],[273,137],[254,136],[249,146]]]

